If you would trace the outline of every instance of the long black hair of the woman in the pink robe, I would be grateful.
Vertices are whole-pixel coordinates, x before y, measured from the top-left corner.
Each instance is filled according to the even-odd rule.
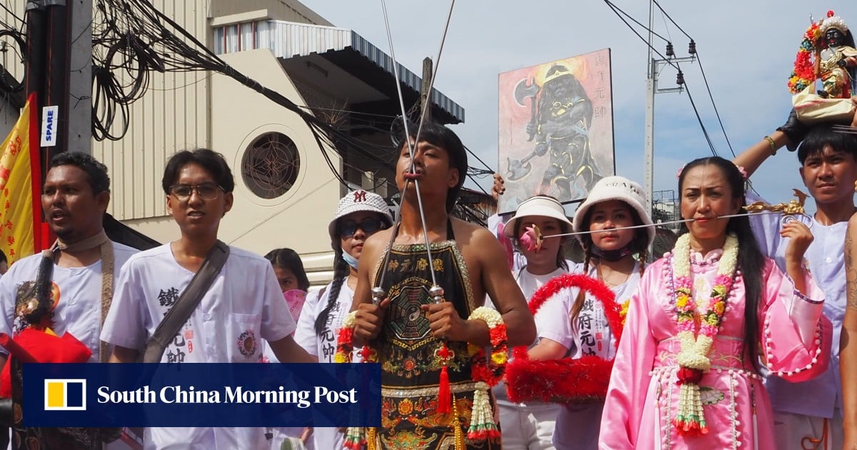
[[[744,191],[744,176],[738,170],[732,161],[722,159],[719,156],[710,156],[708,158],[694,159],[687,163],[681,170],[679,175],[679,195],[684,197],[684,191],[681,189],[685,182],[687,171],[699,165],[714,165],[726,178],[729,188],[732,189],[733,200],[740,200],[740,206],[746,206],[745,191]],[[690,219],[690,218],[683,218]],[[750,357],[753,369],[758,371],[758,346],[756,345],[756,336],[758,335],[758,309],[761,305],[761,297],[763,291],[762,269],[764,268],[764,255],[758,248],[756,237],[750,228],[750,218],[747,216],[733,217],[728,219],[726,225],[727,233],[734,233],[738,237],[738,266],[741,271],[741,278],[744,280],[744,289],[746,297],[744,300],[744,343],[743,354]],[[681,226],[679,235],[685,234],[687,227]]]

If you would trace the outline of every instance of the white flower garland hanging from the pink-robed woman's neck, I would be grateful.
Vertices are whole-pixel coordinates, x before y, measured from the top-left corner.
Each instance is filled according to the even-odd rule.
[[[704,435],[708,433],[708,427],[705,425],[698,383],[711,367],[708,352],[726,311],[726,296],[732,288],[738,265],[738,237],[732,233],[726,237],[714,287],[707,301],[701,297],[703,294],[699,291],[696,300],[692,299],[690,252],[690,235],[682,235],[676,241],[669,260],[675,289],[675,321],[679,330],[676,336],[681,345],[681,351],[676,357],[680,366],[679,408],[673,424],[680,435]],[[695,333],[696,322],[693,315],[697,304],[704,305],[705,310],[699,318],[699,332]]]

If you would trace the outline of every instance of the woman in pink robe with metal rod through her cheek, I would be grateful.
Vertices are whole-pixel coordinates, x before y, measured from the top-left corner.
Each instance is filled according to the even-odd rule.
[[[680,239],[673,254],[646,270],[632,297],[599,447],[773,450],[773,416],[759,359],[771,376],[803,381],[823,373],[830,356],[831,327],[821,312],[822,292],[802,265],[812,234],[798,221],[783,225],[782,235],[790,238],[784,274],[758,251],[746,216],[718,219],[739,213],[743,206],[744,178],[736,166],[717,157],[694,160],[681,171],[679,187],[681,215],[695,220],[687,223],[688,237]],[[706,432],[694,435],[674,424],[682,390],[680,369],[686,370],[677,363],[682,345],[677,337],[674,255],[682,254],[680,243],[689,242],[685,267],[692,280],[693,333],[698,335],[729,234],[737,237],[737,271],[705,355],[710,369],[696,382]],[[746,336],[752,339],[746,341]]]

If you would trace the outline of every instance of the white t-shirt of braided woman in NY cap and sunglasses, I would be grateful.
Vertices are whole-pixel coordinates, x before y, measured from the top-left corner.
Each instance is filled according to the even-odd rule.
[[[338,344],[339,328],[342,327],[345,316],[351,310],[354,291],[351,291],[346,281],[346,279],[342,280],[339,297],[327,315],[326,325],[321,336],[315,333],[315,319],[318,318],[323,309],[327,308],[333,283],[325,287],[321,297],[319,297],[318,292],[312,294],[312,297],[307,297],[307,302],[303,304],[301,317],[297,321],[297,331],[295,332],[297,345],[302,346],[310,355],[318,357],[319,363],[333,363],[333,356],[336,354],[336,345]],[[352,361],[358,362],[359,358],[355,356]],[[316,427],[313,430],[312,441],[318,450],[323,448],[338,449],[344,447],[345,435],[339,429]]]

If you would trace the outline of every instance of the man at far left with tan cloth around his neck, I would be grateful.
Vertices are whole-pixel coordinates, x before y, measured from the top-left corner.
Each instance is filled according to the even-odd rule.
[[[99,331],[111,306],[110,286],[116,285],[119,268],[137,252],[127,245],[112,242],[105,234],[102,220],[110,202],[107,167],[87,153],[58,153],[51,159],[45,176],[41,202],[45,219],[57,236],[55,251],[51,254],[54,263],[49,295],[53,307],[45,319],[58,336],[69,333],[86,345],[92,351],[88,362],[106,362],[110,349],[99,340]],[[16,312],[33,298],[43,259],[41,253],[27,256],[9,267],[9,272],[0,279],[0,307],[3,309],[0,333],[18,335],[27,327],[38,329],[45,325],[27,323]],[[2,347],[0,355],[0,366],[3,366],[7,354]],[[16,364],[14,372],[17,373],[11,375],[17,381],[13,385],[20,387],[21,364]],[[16,397],[13,393],[13,398]],[[119,437],[115,431],[27,428],[16,423],[12,428],[13,448],[100,447],[102,441]]]

